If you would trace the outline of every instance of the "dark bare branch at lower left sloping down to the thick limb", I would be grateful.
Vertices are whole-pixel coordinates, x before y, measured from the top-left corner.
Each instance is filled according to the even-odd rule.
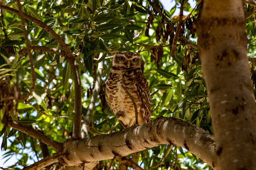
[[[16,121],[9,120],[8,126],[13,127],[14,129],[17,129],[18,131],[21,131],[23,133],[26,133],[27,135],[34,137],[38,139],[39,141],[45,143],[46,145],[52,147],[52,149],[56,150],[56,152],[59,152],[62,148],[62,144],[54,141],[50,137],[43,135],[42,133],[39,133],[32,129],[31,127],[28,127],[26,125],[22,125]]]

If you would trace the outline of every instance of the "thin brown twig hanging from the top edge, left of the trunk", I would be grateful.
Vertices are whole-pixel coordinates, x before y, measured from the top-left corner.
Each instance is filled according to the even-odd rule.
[[[171,55],[172,56],[176,56],[176,47],[177,47],[177,41],[180,35],[180,31],[181,31],[181,26],[183,25],[183,8],[184,8],[184,4],[185,4],[185,0],[182,0],[180,2],[180,18],[179,18],[179,22],[178,25],[176,27],[176,31],[175,31],[175,35],[172,41],[172,50],[171,50]]]

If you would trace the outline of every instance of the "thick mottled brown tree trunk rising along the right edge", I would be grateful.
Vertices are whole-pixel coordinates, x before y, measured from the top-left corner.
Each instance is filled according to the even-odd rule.
[[[256,109],[241,0],[204,0],[198,49],[222,170],[256,169]]]

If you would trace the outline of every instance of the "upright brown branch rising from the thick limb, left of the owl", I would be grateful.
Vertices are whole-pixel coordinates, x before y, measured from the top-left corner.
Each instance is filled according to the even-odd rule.
[[[73,138],[81,138],[81,119],[82,119],[82,84],[79,72],[78,63],[74,57],[67,58],[71,66],[74,77],[75,99],[74,99],[74,123],[73,123]]]

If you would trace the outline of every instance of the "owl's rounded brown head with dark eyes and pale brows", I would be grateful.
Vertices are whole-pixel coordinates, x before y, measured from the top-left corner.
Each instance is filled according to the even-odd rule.
[[[130,51],[118,52],[114,55],[112,66],[140,68],[140,56]]]

